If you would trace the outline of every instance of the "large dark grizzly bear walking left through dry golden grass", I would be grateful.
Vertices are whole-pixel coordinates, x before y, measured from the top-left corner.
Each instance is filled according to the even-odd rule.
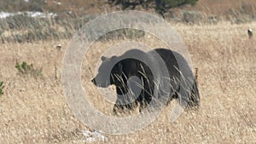
[[[183,107],[200,105],[196,80],[188,62],[170,49],[153,49],[147,53],[131,49],[120,56],[102,56],[98,74],[91,81],[102,88],[115,85],[114,113],[138,106],[142,112],[149,104],[155,104],[153,101],[167,104],[172,99],[177,99]]]

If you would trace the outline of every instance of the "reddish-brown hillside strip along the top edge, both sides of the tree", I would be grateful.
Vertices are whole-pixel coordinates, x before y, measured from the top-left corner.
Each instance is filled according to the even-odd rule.
[[[195,10],[202,14],[216,14],[218,16],[229,16],[232,13],[250,14],[255,17],[256,3],[254,0],[199,0],[195,6],[185,6],[182,10]],[[47,0],[47,1],[5,1],[0,0],[0,11],[31,11],[43,10],[54,13],[73,11],[77,14],[102,14],[110,11],[120,10],[110,8],[108,0]],[[143,10],[143,9],[141,9]],[[152,11],[149,9],[149,11]]]

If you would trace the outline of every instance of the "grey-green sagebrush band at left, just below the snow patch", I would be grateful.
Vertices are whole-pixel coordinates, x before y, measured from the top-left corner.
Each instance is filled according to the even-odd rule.
[[[74,15],[59,14],[49,19],[30,17],[24,13],[0,19],[0,43],[32,43],[72,38],[73,34],[93,18],[92,14],[83,18]]]

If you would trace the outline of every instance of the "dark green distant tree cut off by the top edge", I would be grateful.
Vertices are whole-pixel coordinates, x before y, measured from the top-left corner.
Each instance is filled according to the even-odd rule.
[[[121,5],[122,9],[136,9],[142,6],[143,9],[155,9],[162,16],[172,8],[180,7],[185,4],[195,5],[198,0],[108,0],[110,5]]]

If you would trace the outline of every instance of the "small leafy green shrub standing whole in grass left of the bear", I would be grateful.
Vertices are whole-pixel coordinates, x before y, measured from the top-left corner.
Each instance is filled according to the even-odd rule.
[[[18,70],[20,74],[23,74],[23,75],[30,75],[34,78],[43,76],[42,67],[34,68],[32,64],[27,65],[25,61],[23,61],[21,64],[19,62],[16,62],[15,68]]]

